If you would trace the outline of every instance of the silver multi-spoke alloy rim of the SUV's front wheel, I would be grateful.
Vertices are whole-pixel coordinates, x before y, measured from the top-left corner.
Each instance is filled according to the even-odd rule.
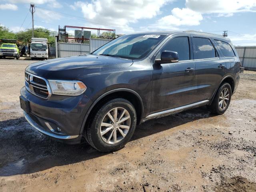
[[[108,144],[120,142],[130,129],[129,112],[122,107],[109,110],[100,124],[100,136]]]

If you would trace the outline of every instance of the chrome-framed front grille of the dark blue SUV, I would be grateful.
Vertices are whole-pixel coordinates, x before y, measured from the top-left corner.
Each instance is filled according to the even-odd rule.
[[[32,92],[32,94],[35,94],[36,96],[44,99],[48,98],[49,90],[46,79],[34,76],[33,74],[28,74],[27,72],[25,72],[25,79],[28,83],[26,88]]]

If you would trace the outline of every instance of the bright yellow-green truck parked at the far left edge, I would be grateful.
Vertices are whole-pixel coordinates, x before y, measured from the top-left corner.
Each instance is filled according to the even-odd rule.
[[[5,57],[20,58],[20,50],[16,44],[16,40],[2,39],[0,46],[0,59]]]

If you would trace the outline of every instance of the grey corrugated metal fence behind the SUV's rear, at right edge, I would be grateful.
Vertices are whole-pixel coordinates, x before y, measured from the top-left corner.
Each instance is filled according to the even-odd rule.
[[[256,46],[235,47],[242,63],[247,70],[256,70]]]

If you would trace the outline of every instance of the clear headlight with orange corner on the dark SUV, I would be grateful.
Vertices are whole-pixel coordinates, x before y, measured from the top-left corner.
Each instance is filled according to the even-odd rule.
[[[81,81],[49,80],[52,94],[56,95],[80,95],[86,90],[86,85]]]

